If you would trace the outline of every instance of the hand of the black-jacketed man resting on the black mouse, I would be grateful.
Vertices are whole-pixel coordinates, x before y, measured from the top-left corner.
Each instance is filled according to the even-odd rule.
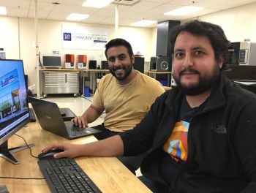
[[[80,148],[75,148],[74,144],[68,144],[68,143],[63,143],[63,144],[55,144],[55,145],[50,145],[46,147],[45,149],[42,150],[42,153],[46,153],[50,151],[51,149],[61,149],[63,150],[60,153],[56,153],[53,155],[54,158],[62,158],[62,157],[68,157],[68,158],[75,158],[81,155],[81,152],[78,151]]]

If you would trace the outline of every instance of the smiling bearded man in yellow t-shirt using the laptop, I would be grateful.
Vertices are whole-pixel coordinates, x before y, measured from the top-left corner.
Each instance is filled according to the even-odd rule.
[[[103,132],[94,135],[98,140],[132,129],[140,122],[152,103],[165,92],[161,84],[133,68],[135,57],[132,46],[124,39],[112,39],[105,46],[110,74],[102,77],[91,106],[72,119],[72,124],[85,127],[105,110],[104,123],[94,126]],[[143,156],[119,158],[135,173]]]

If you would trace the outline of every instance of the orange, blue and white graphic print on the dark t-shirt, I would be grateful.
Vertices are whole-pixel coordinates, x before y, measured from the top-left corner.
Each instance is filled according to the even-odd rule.
[[[187,133],[189,122],[179,121],[164,144],[164,151],[176,161],[184,163],[187,160]]]

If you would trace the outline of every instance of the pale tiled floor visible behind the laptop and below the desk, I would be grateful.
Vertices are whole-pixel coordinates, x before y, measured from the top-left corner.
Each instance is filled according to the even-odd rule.
[[[56,102],[59,107],[67,107],[71,109],[75,115],[81,116],[83,112],[91,105],[92,97],[67,97],[67,96],[48,96],[45,100],[50,102]],[[89,124],[89,126],[95,126],[101,124],[104,121],[105,114],[103,113],[96,121]],[[141,175],[140,170],[136,171],[136,175]]]

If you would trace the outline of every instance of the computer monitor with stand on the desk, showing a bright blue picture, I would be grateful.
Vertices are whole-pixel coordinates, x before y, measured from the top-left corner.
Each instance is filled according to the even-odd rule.
[[[0,157],[19,163],[12,153],[28,146],[8,149],[7,140],[29,122],[23,61],[0,60]]]

